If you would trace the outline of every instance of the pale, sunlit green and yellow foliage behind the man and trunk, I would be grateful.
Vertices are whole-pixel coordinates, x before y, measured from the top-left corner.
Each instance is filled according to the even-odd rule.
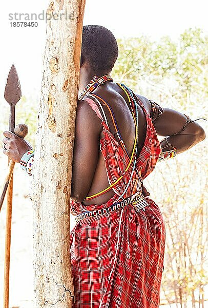
[[[119,59],[112,73],[115,81],[193,120],[207,118],[207,38],[200,29],[184,31],[176,42],[168,36],[158,42],[141,36],[120,39],[118,44]],[[32,97],[23,97],[17,106],[16,123],[28,124],[32,144],[37,105]],[[1,136],[7,119],[8,106],[1,102]],[[205,121],[199,123],[205,127]],[[207,299],[206,154],[202,142],[174,160],[158,163],[145,181],[167,228],[161,304],[170,307],[191,303],[193,308],[203,308]]]

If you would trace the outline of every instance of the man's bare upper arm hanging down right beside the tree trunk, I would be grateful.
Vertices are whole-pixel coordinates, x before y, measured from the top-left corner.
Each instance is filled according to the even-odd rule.
[[[85,101],[76,111],[71,199],[82,202],[90,190],[98,161],[101,120]]]

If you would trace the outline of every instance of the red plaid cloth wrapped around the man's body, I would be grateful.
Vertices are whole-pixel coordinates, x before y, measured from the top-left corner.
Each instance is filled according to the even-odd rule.
[[[147,118],[147,137],[123,198],[134,194],[142,179],[153,171],[161,150],[150,115],[141,102],[140,105]],[[102,125],[105,139],[101,140],[101,152],[110,183],[114,183],[127,167],[129,157],[104,121]],[[117,202],[129,182],[131,171],[132,166],[115,185],[115,195],[107,203],[84,206],[71,201],[71,213],[77,215]],[[157,204],[150,198],[145,200],[149,204],[145,211],[136,211],[130,204],[112,213],[85,218],[73,228],[73,308],[159,306],[165,229]]]

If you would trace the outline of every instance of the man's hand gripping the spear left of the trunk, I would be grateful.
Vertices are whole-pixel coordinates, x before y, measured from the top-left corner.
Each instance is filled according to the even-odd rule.
[[[13,162],[19,163],[22,156],[32,149],[31,144],[11,131],[4,131],[3,153],[6,154]]]

